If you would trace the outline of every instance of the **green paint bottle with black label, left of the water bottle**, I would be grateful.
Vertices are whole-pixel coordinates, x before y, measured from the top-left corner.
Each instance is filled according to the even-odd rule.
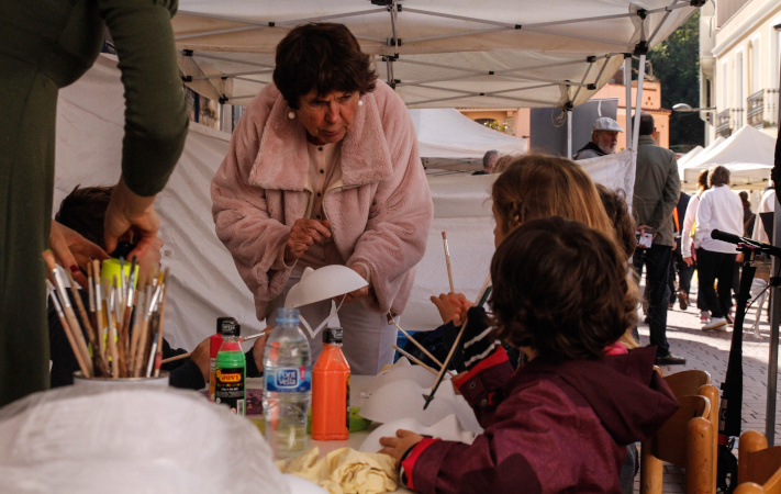
[[[241,326],[235,321],[222,325],[222,346],[217,351],[214,369],[214,402],[225,404],[233,413],[244,416],[247,402],[247,361],[238,340],[239,333]]]

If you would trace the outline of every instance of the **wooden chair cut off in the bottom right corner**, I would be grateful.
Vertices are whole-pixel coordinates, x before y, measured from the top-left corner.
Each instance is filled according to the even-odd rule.
[[[735,494],[781,493],[781,446],[768,448],[763,434],[743,433],[738,442],[738,482]]]

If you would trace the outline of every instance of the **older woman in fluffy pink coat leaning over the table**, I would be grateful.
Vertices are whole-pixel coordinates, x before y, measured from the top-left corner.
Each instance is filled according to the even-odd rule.
[[[293,29],[274,83],[249,103],[212,181],[216,233],[255,296],[258,319],[281,306],[306,267],[344,265],[369,285],[339,311],[356,374],[392,361],[433,205],[404,103],[377,80],[341,24]],[[331,301],[302,308],[315,326]],[[270,322],[269,317],[269,322]],[[313,359],[320,338],[310,341]]]

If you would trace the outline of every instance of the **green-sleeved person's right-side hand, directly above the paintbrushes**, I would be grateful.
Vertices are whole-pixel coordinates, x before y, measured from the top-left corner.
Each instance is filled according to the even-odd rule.
[[[111,201],[105,210],[103,225],[105,250],[112,252],[120,239],[136,244],[129,259],[144,257],[157,239],[160,220],[152,203],[155,197],[138,195],[125,184],[124,178],[114,186]]]

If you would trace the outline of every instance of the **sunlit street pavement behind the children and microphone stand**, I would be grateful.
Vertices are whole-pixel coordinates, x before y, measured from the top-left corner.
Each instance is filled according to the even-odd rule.
[[[690,305],[681,311],[678,302],[667,314],[667,339],[670,351],[684,357],[683,366],[661,366],[662,373],[668,375],[685,369],[700,369],[710,372],[713,384],[719,390],[727,372],[727,360],[733,337],[733,327],[726,332],[703,332],[700,324],[700,311],[696,308],[696,279],[692,281],[693,293],[690,294]],[[756,321],[756,307],[751,306],[744,323],[743,344],[743,430],[766,430],[766,404],[768,383],[768,361],[770,325],[768,324],[768,304],[765,304],[760,316],[760,338],[754,336],[751,329]],[[640,314],[640,321],[643,316]],[[640,344],[648,345],[648,325],[639,325]],[[777,395],[778,396],[778,395]],[[777,397],[776,396],[776,397]],[[781,445],[781,404],[777,400],[776,411],[776,445]],[[735,449],[737,454],[737,445]],[[639,492],[639,473],[635,480],[635,492]],[[665,493],[683,493],[683,472],[672,465],[665,467]]]

